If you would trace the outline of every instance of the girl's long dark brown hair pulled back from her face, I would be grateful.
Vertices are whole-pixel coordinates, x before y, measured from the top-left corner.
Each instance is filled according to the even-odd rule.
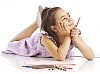
[[[51,26],[56,25],[56,19],[55,19],[55,14],[58,10],[60,10],[60,7],[54,7],[54,8],[45,8],[42,11],[41,15],[41,30],[44,30],[45,32],[48,33],[49,36],[53,37],[53,39],[56,41],[57,46],[60,46],[60,41],[54,31],[52,31]]]

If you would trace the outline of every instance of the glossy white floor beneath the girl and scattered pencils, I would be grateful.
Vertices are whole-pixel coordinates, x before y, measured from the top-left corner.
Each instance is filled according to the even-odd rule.
[[[24,65],[39,65],[39,64],[76,64],[72,66],[72,70],[62,71],[58,69],[48,70],[39,69],[34,70],[30,68],[23,68]],[[100,58],[95,58],[93,61],[87,61],[82,57],[67,58],[65,61],[56,61],[53,58],[35,58],[22,57],[11,54],[0,53],[0,74],[27,74],[27,73],[95,73],[100,72]]]

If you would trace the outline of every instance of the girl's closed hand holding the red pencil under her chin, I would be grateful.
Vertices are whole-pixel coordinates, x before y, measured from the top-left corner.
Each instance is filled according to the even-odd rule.
[[[77,41],[78,38],[80,37],[80,30],[75,26],[72,30],[71,30],[71,39],[72,41]]]

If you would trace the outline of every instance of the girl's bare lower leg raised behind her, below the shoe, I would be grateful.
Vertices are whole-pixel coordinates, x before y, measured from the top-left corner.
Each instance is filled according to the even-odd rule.
[[[32,35],[32,33],[38,28],[37,23],[34,22],[33,24],[31,24],[29,27],[27,27],[26,29],[24,29],[22,32],[20,32],[19,34],[17,34],[12,40],[12,41],[19,41],[21,39],[24,39],[26,37],[29,37]]]

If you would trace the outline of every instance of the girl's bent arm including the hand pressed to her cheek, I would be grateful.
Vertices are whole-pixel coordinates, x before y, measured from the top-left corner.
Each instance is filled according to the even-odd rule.
[[[61,43],[60,47],[58,48],[47,36],[42,36],[42,44],[48,49],[47,51],[51,54],[52,57],[54,57],[57,60],[65,60],[66,55],[69,50],[69,46],[71,43],[70,39],[70,31],[68,30],[68,27],[66,24],[64,24],[62,21],[57,22],[56,30],[58,31],[57,34],[59,38],[64,39]],[[63,27],[62,27],[63,26]],[[53,26],[52,30],[53,30]]]

